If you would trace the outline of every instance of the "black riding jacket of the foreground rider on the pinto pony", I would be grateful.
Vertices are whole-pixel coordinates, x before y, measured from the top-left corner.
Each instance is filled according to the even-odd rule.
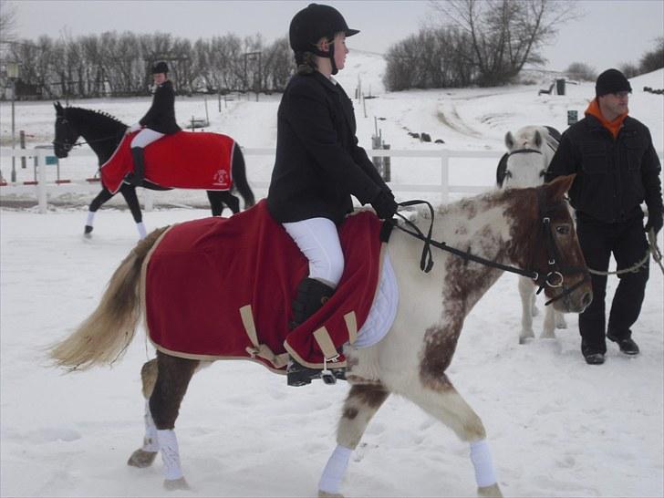
[[[324,217],[340,223],[352,211],[350,195],[367,203],[389,191],[358,146],[353,105],[324,75],[296,75],[277,113],[275,168],[267,195],[279,223]]]

